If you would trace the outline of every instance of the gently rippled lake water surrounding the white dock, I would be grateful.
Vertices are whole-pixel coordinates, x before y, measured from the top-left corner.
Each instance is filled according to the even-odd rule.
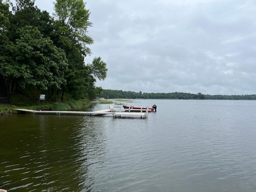
[[[0,116],[8,192],[255,192],[256,101],[131,100],[140,117]],[[120,107],[114,104],[115,107]],[[106,109],[93,104],[90,110]]]

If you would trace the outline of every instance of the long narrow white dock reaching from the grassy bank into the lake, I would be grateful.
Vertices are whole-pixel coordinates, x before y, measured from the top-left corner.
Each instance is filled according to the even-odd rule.
[[[92,115],[107,115],[110,114],[113,117],[121,117],[121,116],[140,116],[140,118],[148,118],[148,111],[146,112],[126,112],[126,109],[105,109],[98,111],[41,111],[41,110],[30,110],[30,109],[14,109],[23,112],[29,112],[33,114],[82,114],[84,116],[92,116]]]

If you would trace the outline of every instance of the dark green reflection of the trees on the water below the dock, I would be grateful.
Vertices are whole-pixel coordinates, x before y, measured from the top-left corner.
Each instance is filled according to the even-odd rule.
[[[18,117],[17,117],[18,116]],[[8,116],[1,128],[2,188],[82,191],[104,156],[104,126],[83,116]],[[3,119],[2,119],[3,120]],[[10,122],[13,126],[10,126]]]

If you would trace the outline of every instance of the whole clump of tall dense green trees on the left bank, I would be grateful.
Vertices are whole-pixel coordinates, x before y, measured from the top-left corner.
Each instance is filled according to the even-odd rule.
[[[96,98],[95,82],[105,80],[108,69],[100,57],[84,63],[93,43],[86,3],[56,0],[51,17],[34,2],[0,0],[0,75],[9,96],[39,90],[58,101],[65,92],[75,100]]]

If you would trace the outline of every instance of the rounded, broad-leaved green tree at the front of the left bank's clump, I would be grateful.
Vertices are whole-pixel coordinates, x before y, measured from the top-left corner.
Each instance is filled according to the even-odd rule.
[[[65,53],[32,26],[18,29],[17,34],[19,38],[0,58],[3,61],[1,72],[9,92],[13,94],[17,84],[21,88],[60,89],[66,83],[64,70],[68,64]]]

